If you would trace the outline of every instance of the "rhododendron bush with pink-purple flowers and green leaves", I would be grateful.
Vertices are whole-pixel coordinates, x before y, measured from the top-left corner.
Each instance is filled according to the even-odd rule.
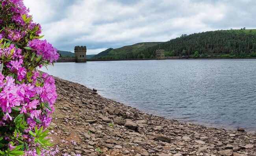
[[[44,155],[51,146],[46,127],[56,88],[37,68],[59,54],[41,40],[41,26],[28,12],[22,0],[0,0],[0,156]]]

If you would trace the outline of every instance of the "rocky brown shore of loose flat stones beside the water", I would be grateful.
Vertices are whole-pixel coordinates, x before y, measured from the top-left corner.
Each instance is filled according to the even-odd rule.
[[[55,77],[50,137],[58,155],[256,156],[256,134],[183,123],[106,99]]]

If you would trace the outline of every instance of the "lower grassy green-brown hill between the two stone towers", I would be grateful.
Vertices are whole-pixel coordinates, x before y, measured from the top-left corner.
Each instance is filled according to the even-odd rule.
[[[121,48],[109,48],[93,56],[93,59],[134,59],[141,58],[141,51],[163,42],[142,42]],[[152,55],[152,58],[154,55]]]

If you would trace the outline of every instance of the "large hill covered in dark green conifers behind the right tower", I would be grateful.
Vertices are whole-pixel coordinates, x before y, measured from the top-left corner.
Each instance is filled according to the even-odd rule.
[[[164,49],[165,56],[186,57],[256,57],[256,29],[218,30],[191,35],[147,48],[141,52],[145,58],[155,56]]]

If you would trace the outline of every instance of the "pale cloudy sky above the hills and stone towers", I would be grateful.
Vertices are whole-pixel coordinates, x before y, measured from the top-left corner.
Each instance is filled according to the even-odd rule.
[[[48,42],[87,54],[182,34],[256,28],[255,0],[24,0]]]

